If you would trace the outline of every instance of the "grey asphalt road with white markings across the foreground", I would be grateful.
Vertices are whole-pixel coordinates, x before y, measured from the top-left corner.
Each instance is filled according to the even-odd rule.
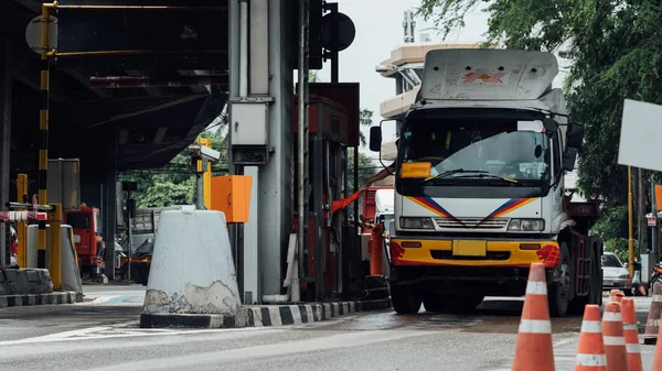
[[[86,291],[87,303],[0,310],[0,370],[501,371],[511,369],[522,307],[490,299],[473,316],[386,310],[303,326],[157,330],[137,327],[142,288]],[[556,370],[573,370],[579,327],[579,317],[553,320]],[[652,350],[642,346],[644,369]]]

